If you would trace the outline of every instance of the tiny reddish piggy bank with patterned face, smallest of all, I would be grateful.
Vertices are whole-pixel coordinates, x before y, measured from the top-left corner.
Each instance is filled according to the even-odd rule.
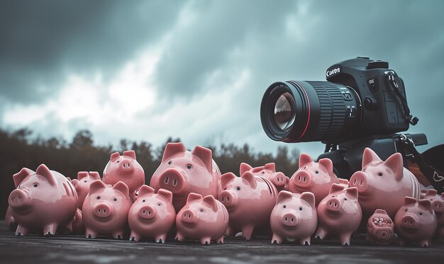
[[[379,245],[387,245],[394,236],[394,224],[387,212],[377,209],[367,221],[366,239]]]

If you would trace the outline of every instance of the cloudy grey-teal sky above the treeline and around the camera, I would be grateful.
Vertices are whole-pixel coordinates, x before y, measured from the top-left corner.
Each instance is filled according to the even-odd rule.
[[[260,125],[265,89],[323,81],[331,64],[365,55],[404,79],[420,120],[409,132],[443,144],[443,13],[440,0],[0,0],[0,127],[272,152],[284,143]]]

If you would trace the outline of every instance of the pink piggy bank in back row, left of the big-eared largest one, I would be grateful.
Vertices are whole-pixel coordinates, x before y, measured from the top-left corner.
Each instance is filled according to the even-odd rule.
[[[103,180],[104,183],[111,185],[122,181],[128,186],[131,197],[133,197],[135,191],[145,183],[145,173],[135,159],[133,150],[123,151],[122,156],[118,152],[114,152],[104,169]]]

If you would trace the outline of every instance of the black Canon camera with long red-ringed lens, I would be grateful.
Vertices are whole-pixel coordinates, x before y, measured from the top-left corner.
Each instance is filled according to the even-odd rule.
[[[404,81],[389,63],[356,57],[326,71],[327,81],[278,81],[267,88],[260,106],[268,137],[282,142],[326,144],[336,173],[350,177],[360,171],[362,151],[371,147],[382,159],[401,149],[395,134],[416,125],[410,115]],[[416,145],[425,134],[406,134]],[[404,159],[405,160],[405,159]]]

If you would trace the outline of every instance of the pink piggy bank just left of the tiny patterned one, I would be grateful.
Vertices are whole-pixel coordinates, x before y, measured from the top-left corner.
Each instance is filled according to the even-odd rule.
[[[340,243],[350,245],[350,237],[360,226],[362,210],[357,202],[357,188],[345,188],[334,183],[330,193],[318,205],[318,229],[315,237],[337,235]]]

